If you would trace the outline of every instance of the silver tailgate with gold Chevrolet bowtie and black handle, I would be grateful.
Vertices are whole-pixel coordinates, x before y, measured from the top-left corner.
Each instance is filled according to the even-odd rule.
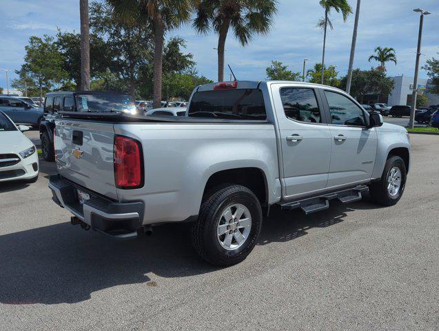
[[[117,199],[112,123],[59,119],[54,137],[59,174],[99,194]]]

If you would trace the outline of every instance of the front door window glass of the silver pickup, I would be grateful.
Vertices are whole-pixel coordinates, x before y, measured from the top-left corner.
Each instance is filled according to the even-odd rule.
[[[365,115],[353,101],[342,94],[325,91],[331,112],[332,124],[342,126],[365,126]]]

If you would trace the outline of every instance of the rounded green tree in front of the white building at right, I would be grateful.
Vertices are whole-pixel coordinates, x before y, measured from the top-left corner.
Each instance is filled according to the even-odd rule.
[[[340,79],[340,88],[345,88],[347,76]],[[363,103],[366,94],[377,94],[387,97],[394,89],[393,79],[386,77],[382,70],[360,70],[355,69],[352,73],[351,95]]]

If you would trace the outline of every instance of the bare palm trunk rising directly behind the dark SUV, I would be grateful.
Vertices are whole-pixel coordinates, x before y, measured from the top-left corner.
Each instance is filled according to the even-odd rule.
[[[88,0],[79,0],[81,20],[81,86],[83,91],[90,90],[90,37],[88,26]]]

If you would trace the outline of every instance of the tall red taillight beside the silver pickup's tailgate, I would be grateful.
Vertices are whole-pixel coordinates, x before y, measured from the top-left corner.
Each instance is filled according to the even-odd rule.
[[[141,146],[134,139],[114,138],[114,179],[117,188],[140,188],[143,185]]]

